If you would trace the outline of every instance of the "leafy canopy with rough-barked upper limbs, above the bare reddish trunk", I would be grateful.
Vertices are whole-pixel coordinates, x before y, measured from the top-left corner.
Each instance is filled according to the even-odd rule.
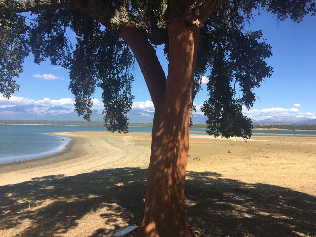
[[[306,14],[315,15],[315,4],[315,0],[0,0],[0,93],[9,98],[19,90],[16,78],[32,52],[37,64],[49,58],[51,64],[70,70],[79,115],[89,120],[92,96],[100,87],[108,131],[127,132],[134,55],[120,37],[121,27],[135,25],[152,46],[164,45],[168,58],[167,26],[183,19],[188,26],[201,27],[192,99],[201,89],[202,76],[208,76],[209,99],[202,107],[207,132],[247,139],[252,123],[242,109],[253,105],[253,89],[273,73],[264,61],[272,55],[270,44],[261,31],[246,31],[247,21],[268,11],[278,21],[290,17],[300,22]],[[20,14],[28,11],[33,20]],[[70,30],[76,42],[70,41]]]

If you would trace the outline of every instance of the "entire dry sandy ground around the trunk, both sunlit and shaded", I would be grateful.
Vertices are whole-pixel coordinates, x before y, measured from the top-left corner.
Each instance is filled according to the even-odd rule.
[[[73,138],[64,153],[0,166],[0,236],[110,236],[139,225],[150,134],[61,135]],[[196,236],[316,236],[316,136],[190,139]]]

